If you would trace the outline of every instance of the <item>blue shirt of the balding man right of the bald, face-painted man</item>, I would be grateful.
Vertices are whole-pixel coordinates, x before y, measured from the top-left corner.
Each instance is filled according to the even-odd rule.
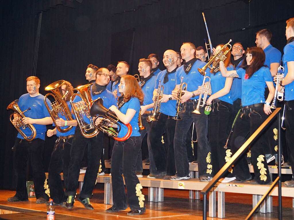
[[[205,66],[206,63],[196,60],[193,66],[191,67],[188,74],[184,71],[184,65],[180,66],[176,71],[176,85],[180,85],[181,83],[181,77],[184,77],[183,82],[187,83],[187,91],[193,92],[198,89],[198,86],[201,86],[203,83],[204,76],[201,75],[198,71],[198,68],[202,68]],[[206,76],[210,77],[210,72],[207,70]],[[208,82],[209,80],[206,78],[205,82]],[[195,96],[191,99],[198,99],[198,96]]]

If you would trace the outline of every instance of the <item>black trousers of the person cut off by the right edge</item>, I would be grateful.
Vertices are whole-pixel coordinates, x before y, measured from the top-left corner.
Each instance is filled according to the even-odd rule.
[[[286,127],[286,142],[289,150],[288,158],[291,164],[292,173],[294,172],[294,100],[285,101],[285,121],[284,126]],[[292,176],[294,180],[294,176]]]

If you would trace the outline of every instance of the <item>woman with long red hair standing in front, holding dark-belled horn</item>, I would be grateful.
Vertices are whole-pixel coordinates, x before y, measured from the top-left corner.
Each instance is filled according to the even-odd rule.
[[[128,140],[116,141],[113,146],[111,156],[113,206],[106,212],[122,211],[129,205],[131,211],[127,213],[128,215],[140,215],[146,211],[145,198],[141,192],[142,186],[136,176],[136,162],[142,142],[138,116],[144,95],[136,78],[132,75],[121,77],[118,91],[123,94],[118,100],[118,108],[114,105],[109,108],[120,121],[121,130],[118,137],[123,137],[126,134],[127,128],[124,124],[128,123],[132,126],[132,134]],[[127,195],[122,174],[126,182]]]

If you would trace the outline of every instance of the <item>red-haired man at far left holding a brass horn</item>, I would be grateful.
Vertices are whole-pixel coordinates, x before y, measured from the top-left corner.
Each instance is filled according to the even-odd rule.
[[[45,203],[49,199],[49,195],[45,192],[44,183],[47,182],[44,166],[43,166],[43,151],[45,142],[46,125],[52,124],[52,119],[49,112],[46,109],[44,103],[44,95],[39,93],[40,80],[36,76],[30,76],[26,78],[26,89],[28,93],[21,95],[18,101],[18,105],[21,111],[24,112],[25,117],[22,122],[31,124],[36,129],[36,137],[27,141],[24,137],[18,133],[14,144],[14,161],[16,164],[15,171],[17,175],[16,194],[13,197],[9,197],[7,201],[28,201],[28,193],[26,189],[26,162],[29,159],[31,161],[31,167],[33,170],[33,178],[35,185],[35,194],[37,204]],[[46,99],[47,104],[50,106],[49,99]],[[18,122],[18,116],[14,114],[13,124]],[[20,129],[24,134],[29,137],[31,130]]]

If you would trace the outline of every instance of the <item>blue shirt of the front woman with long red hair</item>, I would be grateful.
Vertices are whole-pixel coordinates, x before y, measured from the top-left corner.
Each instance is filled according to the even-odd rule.
[[[123,114],[126,114],[128,109],[134,109],[136,110],[136,113],[134,117],[131,119],[130,124],[132,126],[132,136],[141,136],[139,132],[139,125],[138,125],[138,117],[139,117],[139,112],[141,109],[140,101],[136,97],[132,97],[128,102],[126,102],[121,108],[120,111]],[[127,127],[121,122],[118,122],[121,125],[121,130],[118,132],[118,137],[124,137],[127,133]]]

